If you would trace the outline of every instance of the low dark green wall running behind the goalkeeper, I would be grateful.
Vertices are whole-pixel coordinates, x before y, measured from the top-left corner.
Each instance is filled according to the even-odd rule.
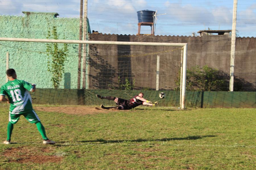
[[[31,93],[35,104],[53,105],[115,105],[114,101],[100,100],[95,94],[131,99],[144,93],[144,98],[158,101],[159,106],[179,107],[179,91],[139,91],[139,90],[83,90],[83,89],[37,89]],[[166,97],[159,98],[164,92]],[[68,97],[67,97],[68,96]],[[186,107],[208,108],[256,108],[256,92],[186,92]]]

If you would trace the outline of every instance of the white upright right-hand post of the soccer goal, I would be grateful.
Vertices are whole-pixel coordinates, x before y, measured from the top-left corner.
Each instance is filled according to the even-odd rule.
[[[186,65],[187,65],[187,44],[183,47],[183,68],[182,68],[182,92],[181,92],[181,109],[185,109],[185,92],[186,92]]]

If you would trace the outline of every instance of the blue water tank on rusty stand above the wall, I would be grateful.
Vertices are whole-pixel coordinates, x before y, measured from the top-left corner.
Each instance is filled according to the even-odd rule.
[[[151,35],[154,35],[154,14],[152,10],[140,10],[137,12],[138,15],[138,34],[141,35],[141,26],[146,25],[151,27]]]

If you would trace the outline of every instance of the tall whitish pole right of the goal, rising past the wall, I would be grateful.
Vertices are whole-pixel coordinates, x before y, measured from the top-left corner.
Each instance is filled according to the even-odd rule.
[[[234,0],[233,7],[233,24],[232,24],[232,37],[231,37],[231,52],[230,52],[230,81],[229,91],[234,90],[234,68],[235,68],[235,50],[236,50],[236,12],[237,12],[237,0]]]

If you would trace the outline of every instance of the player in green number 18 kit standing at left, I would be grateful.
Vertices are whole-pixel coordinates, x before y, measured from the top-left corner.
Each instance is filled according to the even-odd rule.
[[[25,82],[24,80],[18,80],[14,69],[8,69],[6,74],[9,81],[0,90],[0,101],[7,101],[10,104],[7,139],[4,143],[11,143],[13,125],[18,122],[20,115],[23,115],[28,122],[36,124],[38,131],[42,135],[44,144],[55,144],[54,141],[46,137],[44,126],[32,108],[32,99],[28,90],[34,92],[36,85]]]

